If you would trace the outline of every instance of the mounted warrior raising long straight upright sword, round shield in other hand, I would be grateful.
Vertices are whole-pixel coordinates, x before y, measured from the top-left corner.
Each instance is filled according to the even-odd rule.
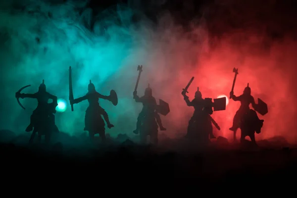
[[[107,127],[109,129],[114,127],[109,122],[109,118],[106,111],[99,105],[99,99],[107,99],[111,101],[114,106],[116,106],[118,103],[117,94],[114,90],[110,91],[109,96],[103,96],[96,91],[95,85],[91,82],[91,80],[90,84],[88,85],[88,93],[83,97],[74,99],[72,90],[72,71],[71,67],[69,67],[69,100],[71,110],[74,110],[73,104],[77,104],[84,100],[88,100],[89,106],[86,110],[84,130],[89,131],[90,140],[92,142],[94,141],[94,136],[96,134],[99,134],[103,142],[106,140],[104,120],[107,123]],[[104,120],[102,119],[101,115],[104,117]]]

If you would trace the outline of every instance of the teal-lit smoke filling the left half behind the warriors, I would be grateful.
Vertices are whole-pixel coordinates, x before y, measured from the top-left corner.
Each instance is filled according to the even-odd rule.
[[[116,126],[106,128],[106,132],[111,136],[119,133],[133,135],[142,108],[142,104],[133,99],[137,65],[146,65],[138,88],[140,96],[147,86],[149,66],[156,65],[151,63],[154,57],[149,55],[150,49],[155,50],[153,44],[147,42],[149,25],[136,26],[132,20],[134,11],[120,4],[98,16],[93,16],[83,1],[50,3],[48,0],[30,0],[24,5],[24,1],[16,0],[0,2],[0,7],[0,35],[3,36],[0,37],[3,57],[0,84],[9,85],[1,88],[0,129],[9,128],[16,132],[26,129],[37,100],[20,99],[26,107],[23,110],[17,104],[15,92],[25,85],[32,85],[22,93],[36,93],[44,79],[47,92],[59,99],[55,114],[59,130],[69,134],[84,132],[88,101],[75,104],[73,111],[69,106],[68,69],[71,66],[74,98],[86,95],[90,80],[102,95],[108,96],[111,89],[115,90],[117,106],[99,99],[110,122]],[[20,120],[16,126],[14,122],[19,115],[26,119]]]

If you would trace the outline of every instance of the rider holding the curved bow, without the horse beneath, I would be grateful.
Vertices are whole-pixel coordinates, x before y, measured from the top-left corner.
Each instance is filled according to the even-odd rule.
[[[27,85],[27,86],[23,87],[22,89],[29,87],[29,86],[30,85]],[[18,92],[15,93],[15,97],[17,99],[30,98],[30,99],[37,99],[37,101],[38,101],[38,105],[31,115],[30,124],[26,128],[26,132],[30,132],[33,130],[33,127],[35,126],[38,118],[44,113],[47,113],[49,115],[50,122],[54,124],[53,113],[55,113],[55,107],[58,105],[57,97],[53,96],[47,92],[45,81],[43,80],[42,84],[39,86],[38,92],[36,92],[35,94],[21,94],[20,92],[22,89],[20,89]],[[48,103],[49,99],[52,99],[53,106],[49,106],[49,103]],[[19,102],[19,100],[18,100],[18,102]],[[19,102],[19,104],[20,104],[20,102]],[[24,108],[22,105],[21,105],[21,107]],[[57,128],[56,128],[56,130],[57,130]]]

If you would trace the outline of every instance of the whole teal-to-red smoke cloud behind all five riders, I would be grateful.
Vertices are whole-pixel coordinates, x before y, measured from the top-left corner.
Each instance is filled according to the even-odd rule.
[[[199,87],[205,98],[229,96],[234,73],[239,68],[235,95],[249,83],[252,95],[268,104],[262,133],[256,139],[284,136],[297,142],[295,128],[297,96],[297,41],[292,31],[296,22],[291,4],[279,1],[220,0],[204,4],[197,12],[194,4],[180,4],[179,13],[164,9],[167,1],[130,1],[100,12],[85,1],[7,1],[0,3],[0,129],[23,132],[36,107],[34,99],[20,99],[15,92],[31,84],[23,93],[35,93],[45,80],[49,93],[68,101],[68,68],[72,67],[74,98],[87,93],[89,80],[103,95],[115,90],[119,103],[100,100],[115,125],[111,136],[133,136],[142,105],[133,100],[138,76],[144,66],[138,94],[150,84],[154,97],[170,104],[162,116],[170,138],[186,134],[194,109],[181,95],[192,76],[190,99]],[[286,9],[286,14],[281,15]],[[145,13],[158,10],[154,17]],[[251,10],[253,10],[251,12]],[[189,19],[187,25],[181,17]],[[292,28],[290,28],[292,27]],[[221,131],[216,136],[232,137],[228,129],[239,108],[229,101],[225,111],[214,112]],[[88,102],[56,113],[56,124],[69,134],[82,132]]]

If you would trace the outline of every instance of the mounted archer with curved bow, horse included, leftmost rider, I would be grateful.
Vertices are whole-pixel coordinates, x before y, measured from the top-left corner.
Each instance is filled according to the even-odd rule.
[[[19,91],[15,93],[15,97],[19,105],[25,109],[25,107],[20,103],[19,98],[30,98],[37,99],[38,105],[33,111],[33,114],[30,118],[30,124],[26,128],[26,132],[33,133],[31,135],[29,143],[32,143],[36,133],[38,133],[38,141],[41,141],[42,135],[45,136],[46,143],[49,143],[50,136],[52,132],[59,132],[58,128],[55,125],[54,113],[56,113],[57,97],[49,94],[46,89],[45,81],[43,80],[42,84],[39,86],[38,92],[35,94],[21,94],[21,91],[31,85],[22,87]],[[49,99],[52,99],[51,103],[48,103]]]

